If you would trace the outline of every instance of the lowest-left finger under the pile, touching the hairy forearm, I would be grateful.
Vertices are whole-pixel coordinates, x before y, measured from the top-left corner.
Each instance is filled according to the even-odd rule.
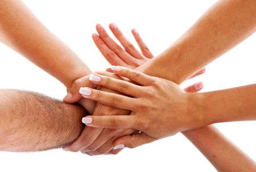
[[[101,134],[103,128],[93,128],[86,126],[81,135],[65,151],[78,152],[91,145]]]

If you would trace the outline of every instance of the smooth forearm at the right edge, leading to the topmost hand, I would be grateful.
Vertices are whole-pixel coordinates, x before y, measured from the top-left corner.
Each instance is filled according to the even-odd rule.
[[[191,111],[203,126],[218,122],[256,119],[256,84],[221,91],[190,93]]]

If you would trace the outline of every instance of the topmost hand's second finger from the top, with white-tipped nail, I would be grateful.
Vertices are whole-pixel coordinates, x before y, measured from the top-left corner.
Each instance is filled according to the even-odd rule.
[[[89,80],[94,84],[100,85],[101,87],[109,88],[133,97],[137,97],[141,94],[141,92],[144,92],[144,89],[142,89],[141,86],[104,75],[90,75]]]

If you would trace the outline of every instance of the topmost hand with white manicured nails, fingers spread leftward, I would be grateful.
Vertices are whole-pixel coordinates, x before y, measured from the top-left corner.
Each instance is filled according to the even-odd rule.
[[[98,74],[91,81],[129,97],[91,88],[81,88],[82,96],[101,104],[131,110],[131,113],[87,116],[83,118],[86,125],[98,128],[133,128],[141,131],[138,139],[146,137],[146,140],[160,139],[202,126],[203,119],[195,113],[189,94],[179,85],[125,67],[113,66],[112,70],[139,85]]]

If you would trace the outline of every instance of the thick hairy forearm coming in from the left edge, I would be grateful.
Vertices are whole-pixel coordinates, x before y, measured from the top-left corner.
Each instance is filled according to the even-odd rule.
[[[72,143],[85,110],[38,93],[0,90],[0,151],[43,151]]]

